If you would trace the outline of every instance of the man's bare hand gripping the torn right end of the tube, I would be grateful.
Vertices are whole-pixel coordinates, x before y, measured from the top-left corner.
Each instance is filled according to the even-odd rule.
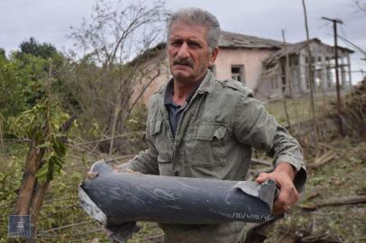
[[[280,163],[273,172],[261,173],[255,179],[259,184],[271,179],[279,186],[279,197],[273,203],[274,214],[288,211],[298,201],[298,193],[293,183],[296,173],[295,167],[288,163]]]

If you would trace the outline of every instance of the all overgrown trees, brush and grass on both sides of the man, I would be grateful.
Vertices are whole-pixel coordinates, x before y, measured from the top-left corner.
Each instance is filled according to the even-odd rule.
[[[118,3],[99,2],[90,23],[73,29],[71,36],[85,51],[81,58],[68,57],[33,38],[7,55],[0,49],[0,243],[8,241],[8,215],[14,212],[38,217],[37,242],[107,240],[101,226],[80,208],[78,184],[96,160],[121,164],[146,147],[146,106],[133,99],[140,97],[133,95],[133,87],[142,78],[148,85],[154,81],[160,59],[137,68],[146,55],[135,57],[159,42],[166,16],[161,2],[152,7]],[[352,132],[343,139],[332,125],[325,129],[327,136],[312,143],[311,134],[310,139],[306,134],[311,117],[308,98],[287,101],[291,129],[305,148],[308,164],[326,164],[309,171],[307,193],[288,220],[263,229],[262,238],[268,242],[366,240],[364,204],[312,208],[328,198],[366,191],[365,82],[345,97],[343,119]],[[316,96],[316,117],[332,116],[333,101],[333,96]],[[268,103],[267,108],[288,126],[281,101]],[[255,156],[266,159],[258,152]],[[30,192],[27,200],[20,200],[24,184]],[[161,242],[156,224],[141,227],[129,242]]]

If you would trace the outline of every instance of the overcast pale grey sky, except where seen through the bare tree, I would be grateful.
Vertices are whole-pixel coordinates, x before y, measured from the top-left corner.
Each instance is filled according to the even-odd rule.
[[[124,0],[128,3],[130,0]],[[366,0],[360,0],[366,4]],[[152,4],[152,0],[145,0]],[[366,12],[357,11],[353,0],[307,0],[310,38],[334,44],[333,25],[322,16],[339,18],[343,24],[339,35],[366,50]],[[79,27],[83,18],[93,13],[93,0],[0,0],[0,48],[7,52],[17,49],[23,40],[34,37],[58,49],[73,49],[74,40],[67,36],[70,26]],[[199,7],[215,14],[224,31],[282,40],[306,40],[301,0],[166,0],[169,11],[181,7]],[[339,45],[353,49],[343,40]],[[361,80],[366,61],[361,54],[352,54],[352,83]]]

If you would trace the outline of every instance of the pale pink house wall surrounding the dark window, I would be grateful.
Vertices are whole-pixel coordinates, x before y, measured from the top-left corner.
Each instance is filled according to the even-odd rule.
[[[274,50],[270,49],[220,49],[215,61],[216,77],[232,77],[232,65],[243,65],[245,85],[254,90],[260,81],[262,61]]]

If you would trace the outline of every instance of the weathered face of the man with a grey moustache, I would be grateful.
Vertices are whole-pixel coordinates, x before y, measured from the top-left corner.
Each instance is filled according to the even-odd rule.
[[[178,82],[197,82],[215,63],[218,49],[211,53],[207,43],[208,28],[202,25],[176,22],[170,29],[169,67]]]

